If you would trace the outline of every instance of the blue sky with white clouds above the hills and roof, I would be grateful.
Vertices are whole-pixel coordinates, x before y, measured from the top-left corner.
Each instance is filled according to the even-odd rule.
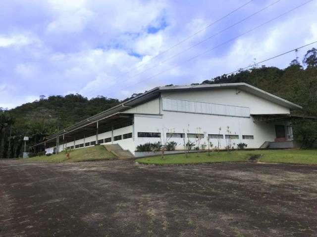
[[[230,73],[317,40],[317,0],[286,13],[307,1],[1,0],[0,107],[125,99]],[[285,68],[313,46],[265,65]]]

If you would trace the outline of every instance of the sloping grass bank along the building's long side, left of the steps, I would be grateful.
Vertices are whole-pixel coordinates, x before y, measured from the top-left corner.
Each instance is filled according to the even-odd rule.
[[[66,158],[66,153],[60,152],[52,156],[40,156],[25,158],[25,161],[37,162],[78,162],[88,160],[112,159],[116,158],[112,153],[108,152],[105,146],[94,146],[72,150],[69,154],[69,159]]]

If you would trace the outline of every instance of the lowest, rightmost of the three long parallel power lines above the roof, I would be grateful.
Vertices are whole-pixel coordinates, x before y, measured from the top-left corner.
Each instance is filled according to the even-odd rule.
[[[204,51],[204,52],[202,52],[202,53],[200,53],[200,54],[197,54],[197,55],[195,55],[195,56],[193,56],[193,57],[191,57],[191,58],[189,58],[189,59],[187,59],[187,60],[185,60],[185,61],[183,61],[183,62],[181,62],[181,63],[179,63],[179,64],[176,64],[176,65],[170,67],[169,69],[166,69],[166,70],[164,70],[164,71],[162,71],[162,72],[160,72],[160,73],[158,73],[158,74],[155,74],[155,75],[153,75],[153,76],[151,76],[151,77],[148,77],[148,78],[146,78],[146,79],[143,79],[143,80],[141,80],[141,81],[139,81],[139,82],[137,82],[137,83],[134,83],[134,84],[139,84],[139,83],[142,83],[142,82],[144,82],[144,81],[146,81],[146,80],[148,80],[148,79],[155,78],[155,77],[157,77],[157,76],[159,76],[159,75],[161,75],[161,74],[163,74],[163,73],[166,73],[166,72],[168,72],[168,71],[170,71],[170,70],[172,70],[172,69],[174,69],[174,68],[177,68],[177,67],[183,65],[184,63],[187,63],[187,62],[189,62],[189,61],[191,61],[191,60],[193,60],[193,59],[195,59],[195,58],[198,58],[198,57],[200,57],[200,56],[202,56],[202,55],[204,55],[204,54],[206,54],[206,53],[209,53],[209,52],[212,51],[213,49],[218,48],[218,47],[220,47],[220,46],[222,46],[222,45],[224,45],[224,44],[226,44],[226,43],[228,43],[228,42],[231,42],[231,41],[233,41],[233,40],[236,40],[236,39],[238,39],[239,37],[244,36],[244,35],[246,35],[246,34],[252,32],[252,31],[255,31],[255,30],[261,28],[262,26],[264,26],[264,25],[266,25],[266,24],[268,24],[268,23],[270,23],[270,22],[272,22],[272,21],[274,21],[274,20],[276,20],[276,19],[278,19],[278,18],[280,18],[280,17],[282,17],[282,16],[284,16],[284,15],[286,15],[286,14],[288,14],[288,13],[290,13],[290,12],[292,12],[292,11],[294,11],[294,10],[296,10],[296,9],[298,9],[298,8],[300,8],[300,7],[302,7],[302,6],[304,6],[304,5],[306,5],[306,4],[308,4],[308,3],[311,2],[311,1],[313,1],[313,0],[308,0],[308,1],[306,1],[306,2],[304,2],[304,3],[302,3],[302,4],[298,5],[298,6],[296,6],[296,7],[294,7],[294,8],[292,8],[292,9],[290,9],[290,10],[288,10],[288,11],[286,11],[286,12],[284,12],[284,13],[282,13],[282,14],[280,14],[280,15],[278,15],[278,16],[276,16],[276,17],[274,17],[274,18],[272,18],[272,19],[270,19],[270,20],[268,20],[268,21],[266,21],[266,22],[264,22],[264,23],[262,23],[262,24],[260,24],[260,25],[258,25],[257,27],[255,27],[255,28],[253,28],[253,29],[251,29],[251,30],[249,30],[249,31],[247,31],[247,32],[244,32],[244,33],[242,33],[242,34],[240,34],[240,35],[238,35],[237,37],[234,37],[234,38],[232,38],[232,39],[230,39],[230,40],[227,40],[227,41],[225,41],[225,42],[223,42],[223,43],[221,43],[221,44],[218,44],[218,45],[216,45],[216,46],[214,46],[214,47],[212,47],[212,48],[210,48],[210,49],[208,49],[208,50],[206,50],[206,51]]]

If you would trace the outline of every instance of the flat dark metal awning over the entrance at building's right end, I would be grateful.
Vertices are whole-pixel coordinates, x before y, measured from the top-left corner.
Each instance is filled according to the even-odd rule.
[[[292,114],[271,114],[271,115],[251,115],[255,121],[258,122],[275,122],[275,121],[316,121],[317,117],[305,115],[292,115]]]

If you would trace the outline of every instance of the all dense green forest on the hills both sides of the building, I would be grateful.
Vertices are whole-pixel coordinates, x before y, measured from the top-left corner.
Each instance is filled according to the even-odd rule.
[[[317,116],[317,49],[310,49],[303,59],[293,60],[285,69],[260,65],[233,75],[222,75],[202,83],[246,82],[304,107],[294,114]],[[136,94],[132,95],[132,97]],[[40,96],[40,99],[12,110],[0,109],[0,158],[18,157],[23,149],[23,136],[30,144],[42,141],[56,129],[93,116],[117,105],[119,100],[103,96],[88,100],[79,94]],[[294,125],[294,135],[302,147],[317,141],[317,122],[301,121]]]

